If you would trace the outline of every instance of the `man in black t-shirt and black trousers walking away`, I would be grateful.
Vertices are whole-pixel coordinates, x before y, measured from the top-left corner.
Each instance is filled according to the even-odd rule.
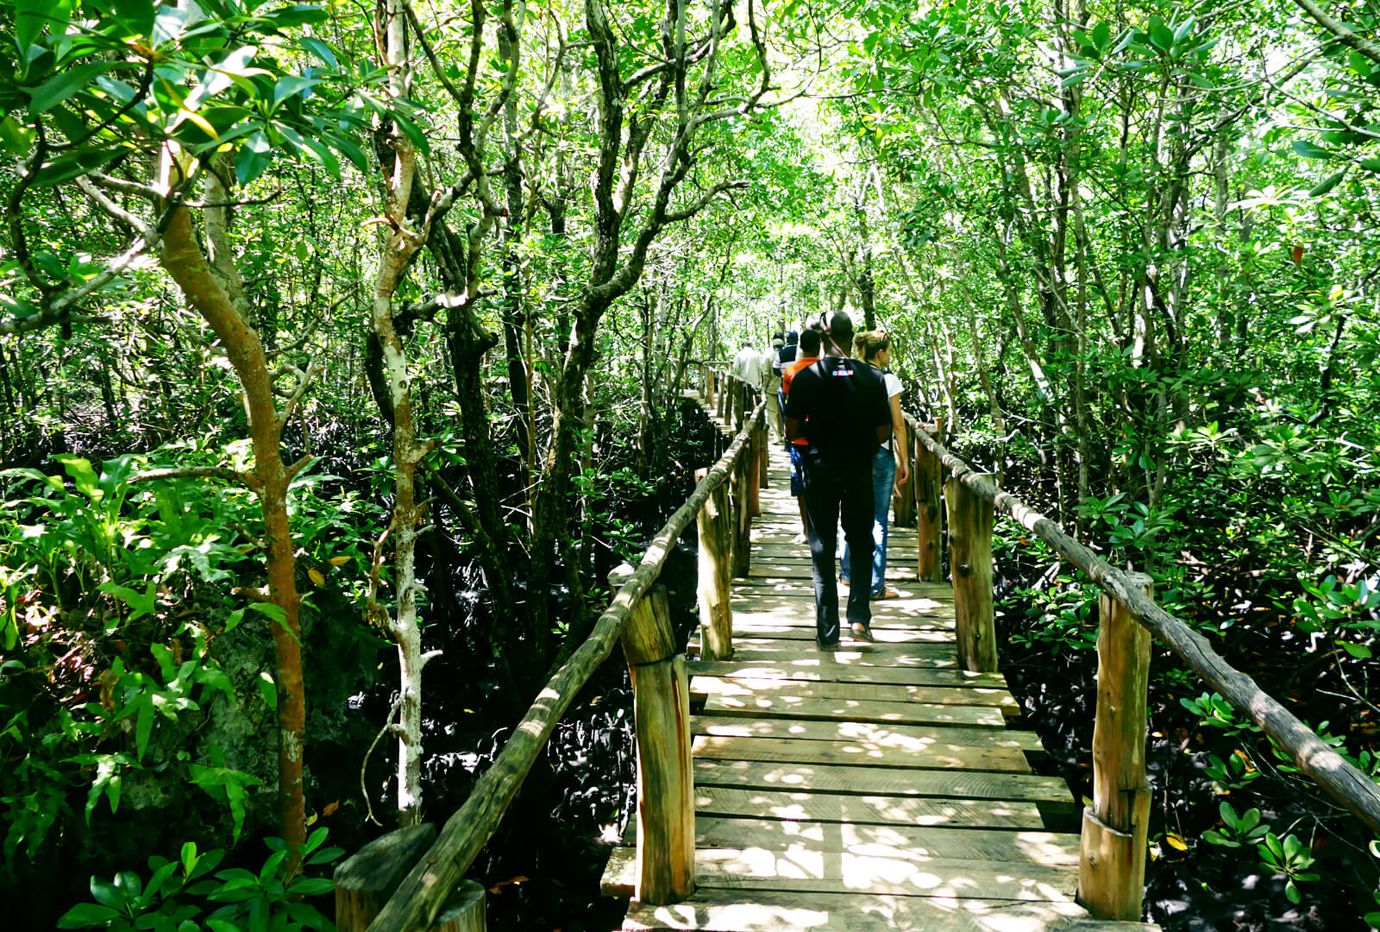
[[[805,438],[805,507],[810,515],[810,562],[814,570],[816,643],[839,643],[839,591],[834,555],[838,529],[849,543],[850,576],[872,579],[872,458],[891,434],[891,406],[882,374],[846,353],[853,322],[846,313],[824,315],[824,352],[791,382],[785,435]],[[869,588],[849,588],[851,634],[872,639]]]

